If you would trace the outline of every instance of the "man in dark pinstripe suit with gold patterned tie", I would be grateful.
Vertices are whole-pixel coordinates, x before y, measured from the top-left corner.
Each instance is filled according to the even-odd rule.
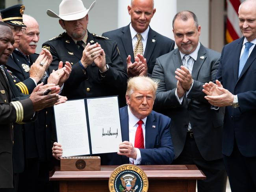
[[[174,48],[173,40],[150,28],[149,23],[155,12],[154,0],[132,0],[131,5],[128,6],[131,23],[128,26],[102,34],[102,36],[117,41],[122,62],[124,64],[127,62],[129,77],[151,76],[156,58],[169,53]],[[136,36],[137,33],[142,36],[142,52],[135,51],[136,46],[140,43]]]

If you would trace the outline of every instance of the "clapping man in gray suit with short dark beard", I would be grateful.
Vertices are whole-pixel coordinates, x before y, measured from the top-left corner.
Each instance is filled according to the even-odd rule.
[[[182,11],[174,16],[178,48],[156,59],[152,78],[160,83],[154,109],[173,120],[173,164],[196,164],[204,172],[206,180],[198,181],[198,192],[224,192],[224,111],[210,105],[202,92],[202,85],[215,79],[220,54],[200,44],[200,30],[194,13]]]

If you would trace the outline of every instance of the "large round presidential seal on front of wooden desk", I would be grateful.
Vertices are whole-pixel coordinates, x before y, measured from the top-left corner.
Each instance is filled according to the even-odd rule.
[[[110,175],[108,187],[110,192],[147,192],[148,177],[138,166],[124,164]]]

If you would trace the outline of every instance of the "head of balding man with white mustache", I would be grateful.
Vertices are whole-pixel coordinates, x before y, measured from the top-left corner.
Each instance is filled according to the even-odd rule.
[[[39,41],[39,25],[35,18],[30,15],[23,15],[23,22],[27,26],[25,33],[20,37],[19,50],[24,55],[35,53]]]

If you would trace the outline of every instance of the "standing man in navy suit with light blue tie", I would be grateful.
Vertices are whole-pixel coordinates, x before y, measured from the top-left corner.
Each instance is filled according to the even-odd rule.
[[[232,192],[256,191],[255,10],[254,0],[240,5],[239,27],[244,37],[224,46],[217,85],[204,85],[211,104],[226,106],[222,153]]]

